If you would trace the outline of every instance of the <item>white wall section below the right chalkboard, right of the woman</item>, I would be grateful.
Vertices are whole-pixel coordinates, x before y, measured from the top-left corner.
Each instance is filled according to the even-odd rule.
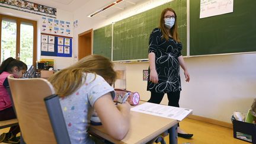
[[[189,57],[185,62],[191,82],[182,80],[182,107],[229,123],[233,111],[247,113],[256,98],[256,53]]]

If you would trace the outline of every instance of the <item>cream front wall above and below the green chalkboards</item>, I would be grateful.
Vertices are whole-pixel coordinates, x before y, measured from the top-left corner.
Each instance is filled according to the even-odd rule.
[[[91,11],[78,9],[74,12],[74,20],[78,27],[74,29],[74,47],[77,47],[77,35],[91,28],[97,29],[111,22],[119,21],[139,12],[146,11],[165,2],[161,0],[141,1],[132,8],[119,11],[108,18],[96,16],[87,18]],[[95,1],[96,3],[96,1]],[[97,5],[91,2],[90,5]],[[77,55],[77,49],[74,49]],[[256,98],[256,53],[238,55],[217,55],[185,58],[191,81],[185,82],[181,70],[180,106],[193,109],[193,114],[210,119],[231,123],[233,111],[247,113]],[[146,63],[116,63],[115,69],[126,70],[126,88],[137,91],[141,100],[148,100],[150,93],[146,91],[146,81],[142,81]],[[167,104],[164,97],[162,104]]]

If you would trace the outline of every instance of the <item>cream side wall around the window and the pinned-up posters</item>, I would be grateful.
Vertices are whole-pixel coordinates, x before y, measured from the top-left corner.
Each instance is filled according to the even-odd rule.
[[[72,65],[74,62],[73,57],[56,57],[56,56],[40,56],[41,55],[41,17],[42,15],[31,14],[28,12],[18,11],[15,9],[0,7],[0,14],[11,15],[13,17],[26,18],[28,20],[37,21],[37,60],[40,59],[55,59],[55,69],[63,69],[66,66]],[[73,23],[73,14],[62,9],[57,9],[57,19],[70,21]]]

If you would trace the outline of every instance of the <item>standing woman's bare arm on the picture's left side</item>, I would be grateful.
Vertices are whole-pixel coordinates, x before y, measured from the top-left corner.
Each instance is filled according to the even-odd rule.
[[[149,68],[150,68],[150,81],[158,83],[158,73],[156,72],[155,66],[155,53],[149,53]]]

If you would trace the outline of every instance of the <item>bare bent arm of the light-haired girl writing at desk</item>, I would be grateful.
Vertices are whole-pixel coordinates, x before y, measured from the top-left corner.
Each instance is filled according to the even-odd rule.
[[[114,105],[111,94],[108,92],[95,101],[94,108],[111,137],[121,140],[126,136],[130,127],[129,103]]]

